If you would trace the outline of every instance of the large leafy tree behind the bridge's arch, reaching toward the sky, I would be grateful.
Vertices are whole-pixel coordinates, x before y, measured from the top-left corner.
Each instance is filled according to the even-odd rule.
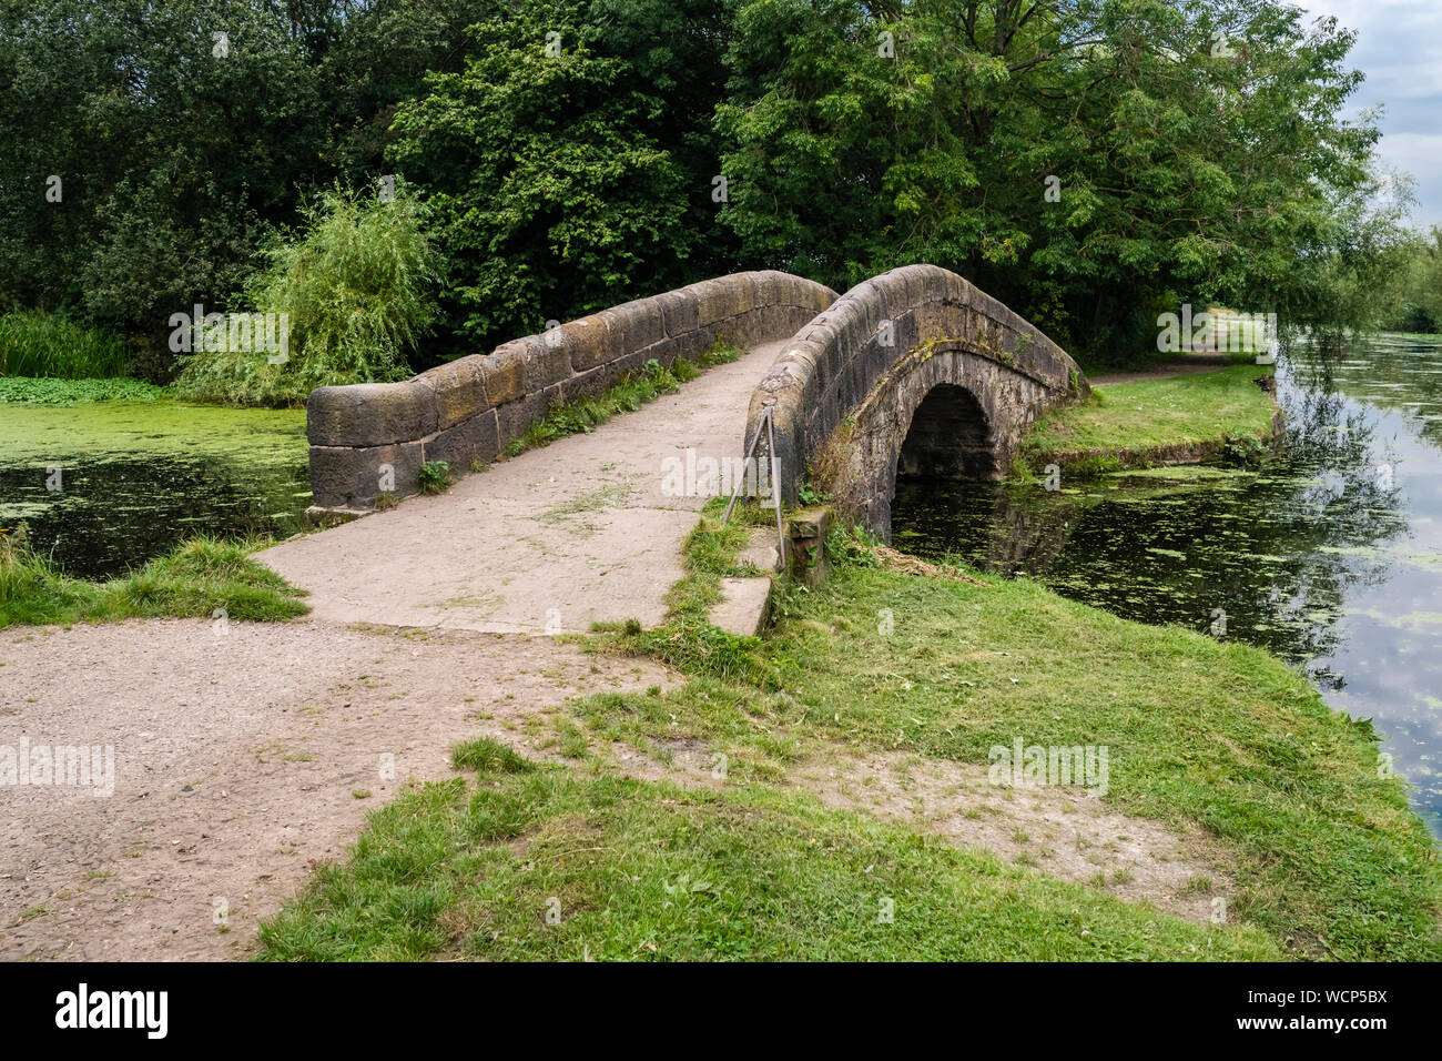
[[[1156,306],[1335,318],[1377,130],[1353,35],[1275,0],[747,0],[717,108],[750,261],[933,261],[1096,357]]]

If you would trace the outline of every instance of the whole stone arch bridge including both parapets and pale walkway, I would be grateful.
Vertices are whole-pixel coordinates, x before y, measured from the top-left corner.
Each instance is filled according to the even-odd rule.
[[[717,342],[744,354],[593,433],[515,455],[549,410]],[[678,494],[668,469],[740,458],[763,410],[783,497],[796,501],[810,476],[841,518],[887,537],[898,471],[999,476],[1027,424],[1086,388],[1056,344],[943,268],[897,268],[839,297],[786,273],[737,273],[404,383],[314,391],[311,515],[345,525],[260,556],[323,621],[497,634],[656,625],[709,498],[699,476]],[[430,460],[460,481],[395,505],[421,492]]]

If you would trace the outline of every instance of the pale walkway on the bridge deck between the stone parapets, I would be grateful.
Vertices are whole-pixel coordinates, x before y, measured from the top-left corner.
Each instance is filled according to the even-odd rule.
[[[258,554],[330,622],[495,634],[665,618],[681,544],[707,498],[666,497],[662,462],[740,456],[751,390],[784,342],[763,344],[643,409],[467,475],[446,494]],[[551,614],[555,609],[555,614]],[[558,615],[557,615],[558,614]]]

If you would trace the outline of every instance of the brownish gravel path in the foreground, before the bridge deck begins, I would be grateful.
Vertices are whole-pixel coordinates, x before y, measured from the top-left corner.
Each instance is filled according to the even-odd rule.
[[[0,960],[241,959],[451,742],[659,667],[549,638],[193,619],[0,632],[0,765],[111,746],[114,794],[0,784]],[[508,726],[510,723],[510,726]],[[389,756],[389,758],[385,758]],[[224,901],[228,925],[216,921]]]

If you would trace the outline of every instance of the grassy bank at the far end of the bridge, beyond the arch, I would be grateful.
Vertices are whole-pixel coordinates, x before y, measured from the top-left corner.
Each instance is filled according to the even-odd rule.
[[[1256,452],[1272,437],[1276,403],[1256,384],[1270,368],[1230,365],[1213,372],[1094,387],[1058,409],[1022,440],[1018,469],[1103,472],[1187,463]]]

